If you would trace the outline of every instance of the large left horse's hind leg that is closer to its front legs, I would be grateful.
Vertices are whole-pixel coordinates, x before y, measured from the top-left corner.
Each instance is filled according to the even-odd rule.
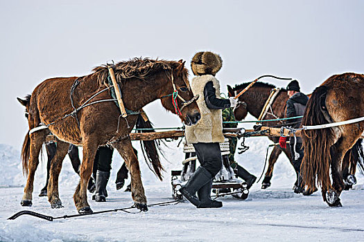
[[[62,162],[64,156],[67,154],[69,143],[57,140],[57,151],[55,151],[55,156],[51,161],[50,178],[48,185],[48,201],[51,203],[52,208],[60,208],[62,202],[60,201],[60,196],[58,193],[58,178],[60,176],[60,171],[62,169]]]

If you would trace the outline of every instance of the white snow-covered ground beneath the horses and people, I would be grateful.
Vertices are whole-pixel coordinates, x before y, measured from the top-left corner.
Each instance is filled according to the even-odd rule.
[[[248,138],[250,149],[236,159],[246,169],[260,176],[267,138]],[[135,147],[140,150],[139,145]],[[220,209],[196,209],[188,202],[164,207],[150,207],[148,212],[110,212],[53,222],[32,216],[15,221],[7,218],[20,210],[32,210],[50,216],[76,214],[72,196],[78,183],[69,158],[60,174],[61,209],[51,209],[47,198],[38,197],[46,179],[46,162],[35,175],[33,207],[21,207],[26,178],[21,174],[20,147],[0,145],[0,241],[364,241],[364,176],[356,174],[358,184],[341,195],[343,207],[330,208],[320,192],[304,197],[294,194],[293,168],[281,156],[275,166],[272,186],[266,190],[256,184],[249,198],[240,201],[232,196],[219,198]],[[160,182],[149,171],[143,158],[141,173],[148,203],[172,201],[171,170],[181,169],[182,147],[168,142],[164,147],[166,172]],[[89,203],[94,210],[110,210],[132,205],[130,193],[116,191],[114,180],[121,167],[114,154],[112,177],[107,185],[107,203]]]

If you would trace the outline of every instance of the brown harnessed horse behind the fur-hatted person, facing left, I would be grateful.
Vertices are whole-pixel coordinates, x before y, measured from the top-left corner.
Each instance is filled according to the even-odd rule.
[[[227,86],[227,90],[229,91],[229,97],[234,97],[236,93],[240,93],[245,89],[246,86],[248,86],[250,82],[243,83],[236,85],[234,89],[232,89],[231,86]],[[253,115],[255,118],[259,118],[259,115],[261,114],[261,110],[263,109],[264,104],[266,104],[266,100],[268,99],[270,95],[270,91],[272,89],[275,89],[275,86],[272,84],[266,84],[263,82],[256,82],[248,91],[243,93],[239,97],[239,101],[245,102],[247,106],[245,105],[238,105],[234,109],[234,115],[236,120],[241,121],[243,120],[248,113]],[[269,112],[266,114],[265,117],[263,117],[264,120],[269,119],[277,119],[277,118],[284,118],[285,116],[285,109],[286,109],[286,102],[288,100],[287,91],[285,89],[280,89],[279,93],[275,97],[274,102],[272,102],[272,109],[269,109]],[[275,122],[262,122],[264,126],[281,126],[283,122],[275,121]],[[268,137],[272,142],[277,143],[279,138],[278,137]],[[272,179],[273,174],[273,168],[275,165],[275,162],[278,159],[278,156],[281,154],[281,152],[284,152],[291,162],[291,151],[289,146],[287,146],[286,149],[281,149],[279,146],[275,146],[270,153],[269,160],[268,160],[268,169],[266,171],[266,174],[264,176],[261,188],[266,189],[270,186],[270,180]],[[291,165],[293,166],[293,163],[291,162]],[[296,181],[297,182],[297,181]]]

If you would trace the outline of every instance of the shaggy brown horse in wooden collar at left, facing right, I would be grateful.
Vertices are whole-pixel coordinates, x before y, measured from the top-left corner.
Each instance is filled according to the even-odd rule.
[[[112,68],[121,87],[125,108],[134,111],[126,118],[121,117],[120,109],[110,93],[107,66],[98,66],[94,68],[94,73],[83,77],[45,80],[32,93],[28,107],[29,129],[32,131],[41,123],[45,124],[60,140],[52,160],[49,179],[49,202],[54,207],[60,204],[58,174],[68,143],[72,143],[83,145],[80,183],[73,195],[79,213],[92,212],[87,203],[87,182],[92,174],[96,149],[101,145],[112,145],[119,151],[130,171],[135,206],[142,211],[148,210],[139,162],[129,136],[137,120],[135,112],[146,104],[161,99],[162,106],[177,113],[185,124],[196,124],[200,119],[197,97],[193,97],[188,71],[182,60],[173,62],[135,58],[128,62],[119,62]],[[26,134],[22,158],[23,163],[28,166],[28,179],[23,202],[32,200],[34,172],[48,132],[47,129],[41,129],[30,132],[30,135]],[[160,174],[159,171],[156,173]]]

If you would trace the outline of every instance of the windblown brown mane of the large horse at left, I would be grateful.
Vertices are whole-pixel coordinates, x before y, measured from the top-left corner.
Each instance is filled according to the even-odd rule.
[[[112,67],[114,68],[116,80],[120,82],[121,80],[133,77],[144,80],[161,69],[164,71],[169,71],[179,65],[180,62],[175,61],[135,57],[129,61],[113,64]],[[105,80],[107,80],[107,76],[109,75],[107,65],[96,66],[92,69],[92,71],[94,71],[92,75],[96,76],[99,84],[104,84]],[[187,77],[189,73],[187,68],[184,68],[183,75],[184,79],[188,80]]]

